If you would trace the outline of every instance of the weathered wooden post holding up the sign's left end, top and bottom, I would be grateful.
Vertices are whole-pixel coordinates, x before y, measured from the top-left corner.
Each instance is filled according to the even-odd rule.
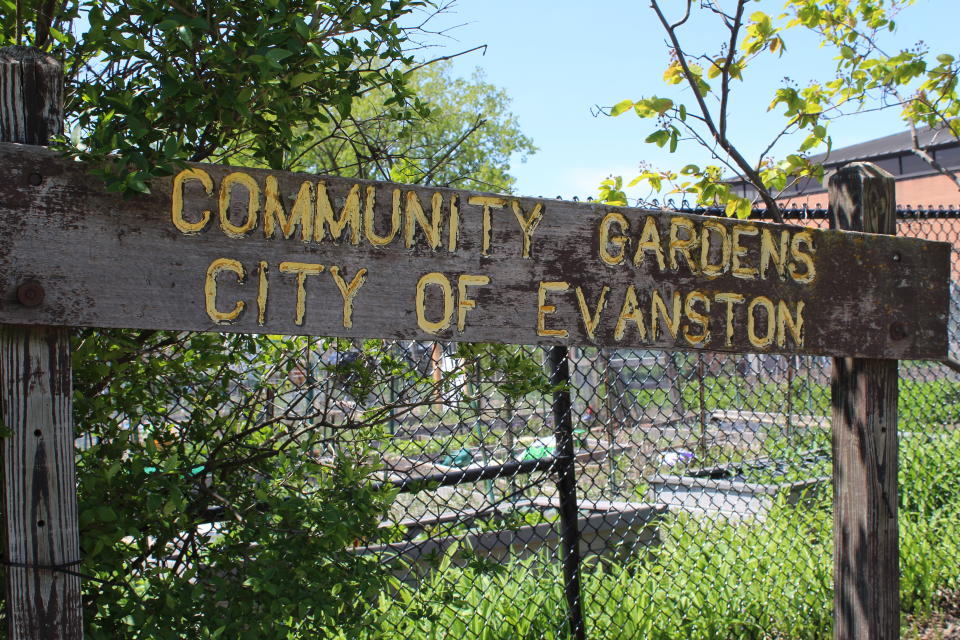
[[[0,48],[0,141],[46,145],[63,130],[63,68],[27,47]],[[36,167],[21,179],[43,189]],[[18,274],[3,305],[40,307],[42,273]],[[77,640],[80,538],[70,332],[0,325],[3,557],[10,640]]]

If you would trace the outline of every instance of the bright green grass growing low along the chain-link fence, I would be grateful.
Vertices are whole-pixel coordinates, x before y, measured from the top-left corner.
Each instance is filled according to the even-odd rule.
[[[923,615],[941,594],[960,589],[960,432],[906,439],[900,459],[901,603],[904,613]],[[627,562],[585,562],[588,637],[830,638],[831,496],[822,493],[812,509],[779,501],[762,521],[665,516],[659,546],[635,551]],[[453,554],[463,551],[442,559],[419,588],[384,594],[367,629],[349,637],[569,637],[556,558],[453,566]]]

